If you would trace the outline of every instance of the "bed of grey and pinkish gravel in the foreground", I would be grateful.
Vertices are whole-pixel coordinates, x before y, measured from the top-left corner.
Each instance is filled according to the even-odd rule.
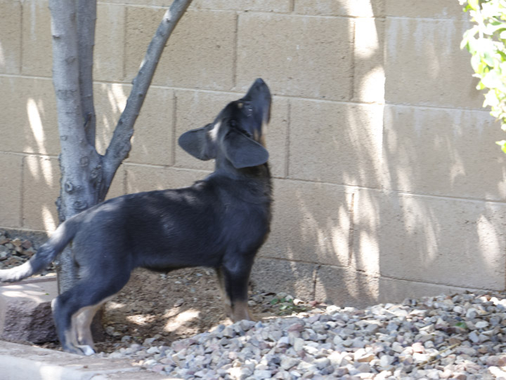
[[[506,379],[505,296],[327,306],[98,355],[181,379]]]

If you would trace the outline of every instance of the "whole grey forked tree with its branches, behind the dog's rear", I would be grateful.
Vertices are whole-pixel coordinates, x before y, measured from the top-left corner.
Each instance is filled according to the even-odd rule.
[[[105,199],[110,184],[131,149],[134,123],[148,92],[167,39],[191,0],[174,0],[157,29],[104,156],[96,151],[93,107],[93,45],[96,0],[49,0],[53,38],[53,85],[60,134],[58,217],[69,217]],[[72,287],[78,273],[72,246],[58,257],[58,292]]]

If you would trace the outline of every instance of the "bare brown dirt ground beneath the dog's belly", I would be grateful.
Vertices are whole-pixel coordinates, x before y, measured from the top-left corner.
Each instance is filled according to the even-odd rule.
[[[280,296],[250,284],[249,310],[256,320],[288,315],[315,306],[295,300],[298,306],[283,309]],[[285,304],[286,305],[286,304]],[[131,280],[114,299],[105,305],[103,341],[96,343],[96,351],[105,353],[143,344],[156,338],[155,344],[191,337],[212,330],[219,324],[229,325],[221,301],[221,293],[212,269],[181,269],[167,274],[137,269]],[[38,345],[59,349],[58,342]]]

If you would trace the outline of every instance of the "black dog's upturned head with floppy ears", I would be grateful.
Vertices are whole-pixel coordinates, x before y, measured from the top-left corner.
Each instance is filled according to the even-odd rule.
[[[263,130],[271,113],[271,92],[262,79],[244,97],[227,106],[214,122],[188,130],[179,145],[200,160],[226,158],[235,168],[262,165],[268,160]]]

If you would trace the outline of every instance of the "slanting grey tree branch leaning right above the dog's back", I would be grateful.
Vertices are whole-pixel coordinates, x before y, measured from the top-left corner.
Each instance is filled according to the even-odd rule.
[[[126,107],[119,118],[115,128],[114,135],[105,152],[104,163],[104,186],[105,192],[112,182],[117,168],[122,161],[128,156],[131,144],[130,139],[134,133],[134,123],[137,119],[139,111],[148,92],[148,88],[155,74],[155,69],[162,55],[163,48],[167,43],[167,39],[176,27],[179,19],[185,13],[186,8],[190,6],[192,0],[174,0],[170,8],[164,14],[164,18],[158,26],[157,32],[151,40],[148,50],[146,51],[141,68],[138,71],[129,98],[126,101]],[[105,193],[102,194],[102,199]]]

